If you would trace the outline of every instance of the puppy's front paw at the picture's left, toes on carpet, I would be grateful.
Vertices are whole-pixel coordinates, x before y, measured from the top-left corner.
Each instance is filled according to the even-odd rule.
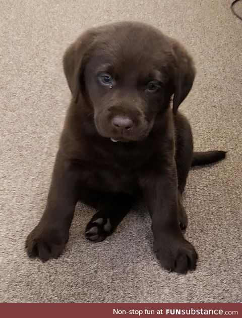
[[[39,257],[42,261],[58,258],[66,246],[68,236],[68,231],[40,222],[28,235],[25,248],[31,258]]]

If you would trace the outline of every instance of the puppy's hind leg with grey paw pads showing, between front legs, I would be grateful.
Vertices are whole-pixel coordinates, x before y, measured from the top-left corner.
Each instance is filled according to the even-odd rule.
[[[98,212],[86,227],[86,238],[103,241],[124,219],[132,206],[134,198],[125,193],[103,194],[98,202]]]

